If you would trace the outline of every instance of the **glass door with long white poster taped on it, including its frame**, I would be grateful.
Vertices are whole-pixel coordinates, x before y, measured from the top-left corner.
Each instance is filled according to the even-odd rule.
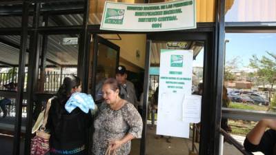
[[[162,32],[150,34],[147,39],[147,52],[150,52],[148,54],[150,59],[148,60],[148,103],[144,105],[148,106],[144,108],[148,107],[148,117],[143,114],[144,123],[147,125],[144,127],[146,134],[143,134],[141,139],[140,153],[204,154],[201,149],[208,147],[204,141],[207,135],[206,128],[210,126],[210,121],[206,119],[206,116],[210,116],[208,111],[210,107],[207,106],[209,102],[206,98],[209,93],[204,91],[205,83],[210,83],[208,75],[206,76],[207,57],[208,52],[210,54],[211,45],[208,34],[180,35]],[[181,67],[183,72],[177,69]],[[164,72],[168,74],[164,76]],[[168,101],[164,101],[164,95],[161,92],[170,93]],[[187,107],[183,103],[184,100],[176,99],[175,94],[200,96],[197,103],[199,106],[193,111],[193,114],[199,114],[198,121],[190,123],[184,120]],[[208,122],[209,125],[206,125]]]

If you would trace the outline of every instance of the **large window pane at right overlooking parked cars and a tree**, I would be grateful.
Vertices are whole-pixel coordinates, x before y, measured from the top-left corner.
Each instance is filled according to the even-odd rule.
[[[224,85],[231,108],[273,110],[275,39],[275,33],[226,34]]]

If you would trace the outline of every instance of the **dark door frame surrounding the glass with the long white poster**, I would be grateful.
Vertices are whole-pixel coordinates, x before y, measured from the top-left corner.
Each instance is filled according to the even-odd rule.
[[[215,36],[214,31],[211,29],[209,31],[206,28],[198,28],[195,32],[189,32],[188,30],[184,32],[159,32],[147,35],[147,45],[146,45],[146,63],[145,63],[145,78],[149,76],[148,70],[150,68],[150,44],[152,41],[204,41],[204,93],[202,95],[202,105],[201,105],[201,136],[199,142],[199,155],[212,154],[210,149],[215,141],[215,132],[217,132],[217,127],[214,122],[215,120],[215,110],[216,102],[215,93],[210,91],[215,90],[215,68],[213,61],[216,60],[215,54]],[[202,30],[201,30],[202,29]],[[193,31],[193,30],[192,30]],[[213,74],[210,74],[213,73]],[[142,114],[142,119],[144,122],[143,134],[141,138],[140,154],[146,154],[146,119],[148,114],[148,83],[144,83],[144,110]]]

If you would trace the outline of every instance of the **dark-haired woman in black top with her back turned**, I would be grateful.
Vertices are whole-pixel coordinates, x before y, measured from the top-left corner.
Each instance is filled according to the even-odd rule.
[[[92,115],[76,107],[66,110],[66,102],[75,92],[81,92],[81,80],[71,75],[63,80],[57,96],[51,101],[46,129],[50,131],[50,155],[88,154],[88,131]]]

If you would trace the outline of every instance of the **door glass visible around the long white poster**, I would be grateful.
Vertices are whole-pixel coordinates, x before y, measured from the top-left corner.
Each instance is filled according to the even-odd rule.
[[[168,43],[180,46],[169,46]],[[181,46],[183,45],[183,46]],[[193,50],[193,94],[201,94],[197,85],[203,81],[204,68],[204,42],[203,41],[152,41],[150,49],[150,79],[148,104],[151,110],[148,114],[148,133],[146,154],[189,154],[190,151],[199,150],[200,123],[190,124],[190,138],[177,138],[160,136],[156,134],[157,125],[157,87],[159,86],[160,52],[163,49]],[[157,95],[157,96],[156,96]],[[157,103],[157,104],[154,104]],[[192,145],[194,144],[194,145]]]

